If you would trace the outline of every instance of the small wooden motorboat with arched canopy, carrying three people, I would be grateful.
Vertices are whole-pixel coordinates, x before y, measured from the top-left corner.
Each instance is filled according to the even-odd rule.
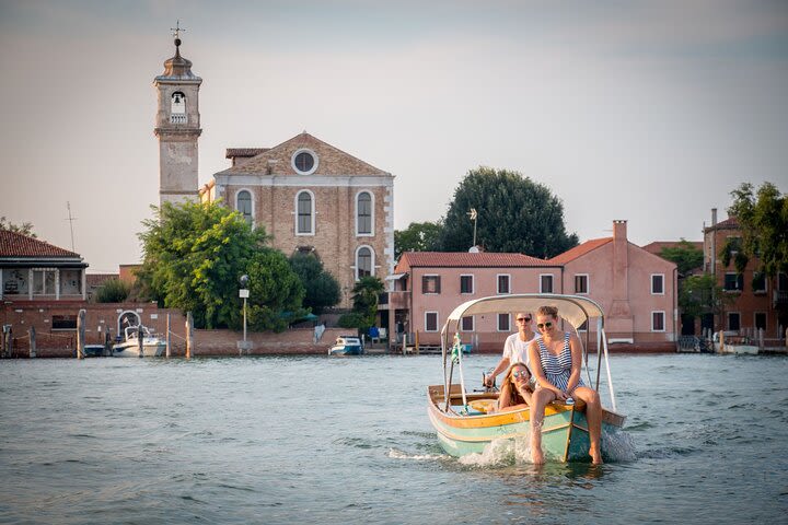
[[[583,371],[588,376],[587,385],[595,385],[599,390],[602,358],[607,376],[607,389],[613,408],[603,407],[602,425],[604,431],[621,428],[625,416],[615,411],[615,394],[607,359],[607,341],[604,335],[604,314],[592,300],[578,295],[518,294],[496,295],[468,301],[457,306],[441,330],[443,355],[442,385],[431,385],[427,389],[428,413],[442,448],[452,456],[482,453],[494,440],[515,438],[528,439],[531,435],[531,413],[529,408],[509,412],[487,413],[498,399],[497,392],[468,393],[462,368],[461,341],[457,327],[461,319],[471,315],[496,314],[503,312],[535,312],[540,306],[556,306],[564,322],[575,328],[596,318],[596,348],[599,352],[595,382],[591,381],[588,366],[588,337],[583,345]],[[582,338],[581,338],[582,343]],[[452,383],[454,372],[460,383]],[[542,447],[546,458],[559,462],[590,460],[588,455],[590,439],[586,421],[584,405],[578,400],[573,405],[554,401],[545,409],[542,427]],[[604,445],[603,445],[604,450]]]

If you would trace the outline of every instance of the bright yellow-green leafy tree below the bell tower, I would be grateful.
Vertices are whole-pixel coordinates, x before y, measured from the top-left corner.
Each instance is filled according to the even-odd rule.
[[[142,295],[165,307],[190,311],[200,328],[236,328],[239,278],[264,247],[265,231],[252,230],[223,206],[165,202],[139,234]]]

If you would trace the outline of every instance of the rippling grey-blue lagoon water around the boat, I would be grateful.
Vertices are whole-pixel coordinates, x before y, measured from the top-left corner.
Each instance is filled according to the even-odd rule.
[[[611,364],[607,463],[535,467],[442,453],[439,357],[3,361],[0,523],[788,523],[788,358]]]

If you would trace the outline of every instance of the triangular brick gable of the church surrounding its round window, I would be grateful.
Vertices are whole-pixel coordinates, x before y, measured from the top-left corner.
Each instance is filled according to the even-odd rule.
[[[269,150],[260,149],[260,153],[252,159],[245,160],[235,166],[217,173],[217,175],[293,175],[299,176],[293,170],[291,159],[299,150],[311,150],[317,156],[317,168],[313,175],[324,176],[392,176],[391,173],[376,168],[354,155],[346,153],[322,140],[311,136],[306,131],[297,135],[292,139],[275,145]],[[230,152],[250,151],[252,148],[231,148]],[[240,156],[240,155],[239,155]]]

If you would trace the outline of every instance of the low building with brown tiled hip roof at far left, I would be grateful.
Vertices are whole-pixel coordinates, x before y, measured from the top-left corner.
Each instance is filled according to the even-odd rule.
[[[79,254],[0,230],[0,300],[84,301],[85,268]]]

